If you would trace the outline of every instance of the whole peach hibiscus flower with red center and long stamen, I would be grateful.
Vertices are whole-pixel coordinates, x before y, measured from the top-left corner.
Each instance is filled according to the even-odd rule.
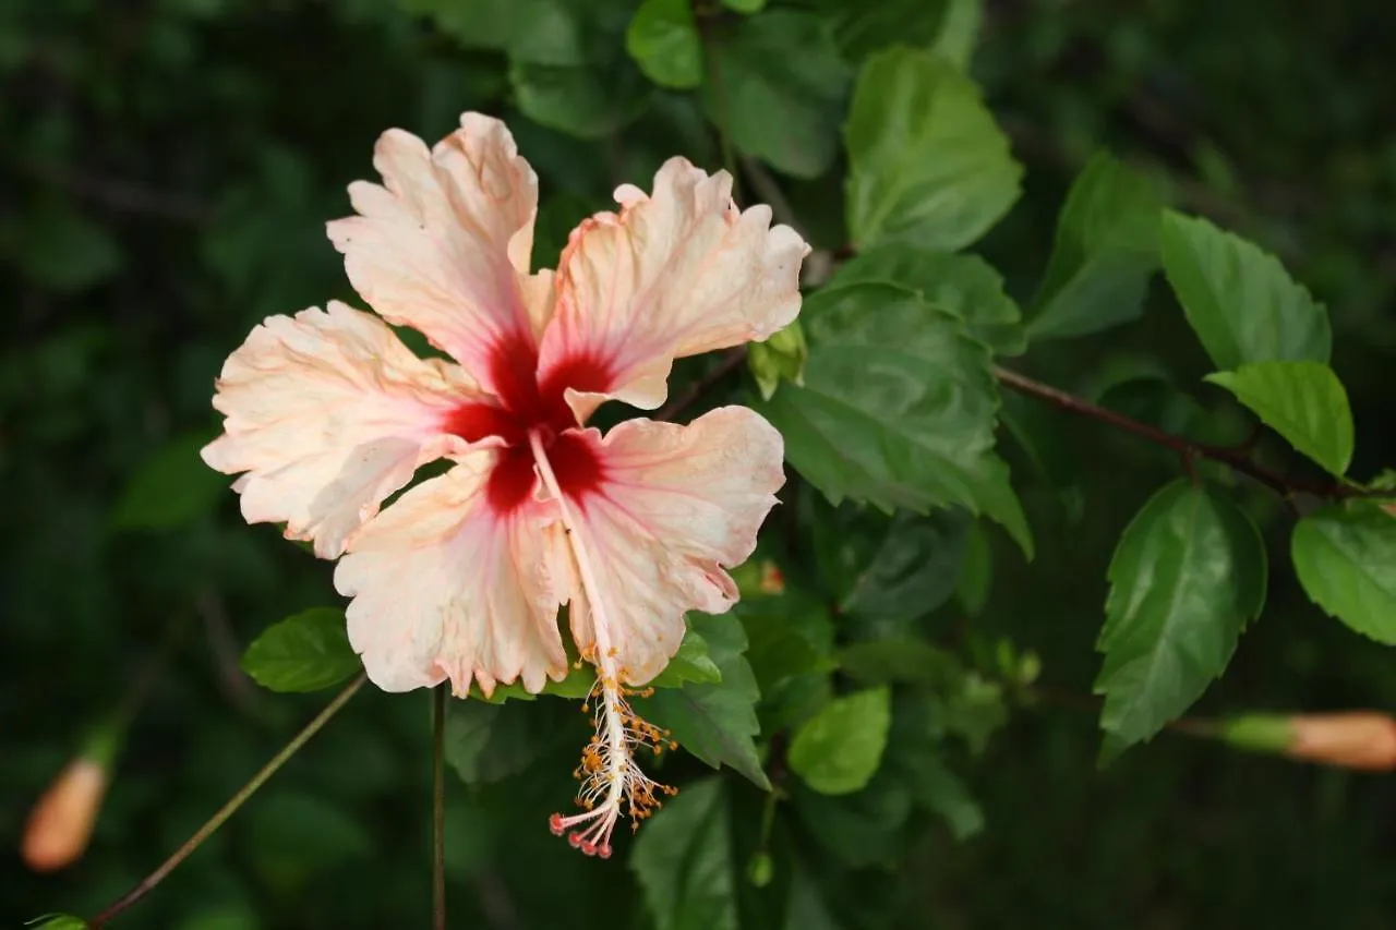
[[[725,172],[673,158],[653,194],[624,184],[618,214],[584,221],[556,274],[530,272],[537,179],[503,123],[466,113],[430,149],[388,130],[374,168],[383,184],[350,184],[357,215],[328,232],[377,316],[331,302],[254,328],[218,378],[225,431],[204,461],[240,473],[248,522],[339,559],[349,641],[385,691],[537,693],[568,673],[568,605],[597,733],[578,769],[588,810],[551,825],[606,856],[621,807],[658,804],[634,750],[663,735],[625,695],[674,655],[687,610],[736,602],[726,568],[785,476],[780,434],[741,406],[606,436],[586,420],[607,399],[655,409],[674,359],[794,320],[810,249],[768,207],[740,211]]]

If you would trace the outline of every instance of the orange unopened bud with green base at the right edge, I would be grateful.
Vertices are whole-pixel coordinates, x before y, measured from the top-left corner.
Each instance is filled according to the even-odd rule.
[[[1321,765],[1396,769],[1396,719],[1376,711],[1252,714],[1227,721],[1222,739],[1238,748]]]

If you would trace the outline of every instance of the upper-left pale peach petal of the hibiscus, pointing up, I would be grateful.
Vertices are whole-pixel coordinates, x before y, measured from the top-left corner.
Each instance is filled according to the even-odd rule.
[[[357,216],[327,229],[349,281],[385,320],[420,330],[498,394],[491,348],[537,345],[551,272],[530,278],[537,177],[497,119],[465,113],[427,151],[402,130],[378,138],[383,186],[355,182]]]

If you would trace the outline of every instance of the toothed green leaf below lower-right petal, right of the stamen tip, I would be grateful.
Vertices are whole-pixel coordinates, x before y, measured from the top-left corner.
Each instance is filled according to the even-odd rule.
[[[747,648],[741,621],[730,613],[692,614],[691,620],[708,642],[708,655],[722,673],[722,681],[688,681],[678,688],[655,691],[653,697],[635,698],[635,709],[713,768],[730,765],[769,790],[771,781],[761,768],[752,740],[761,730],[757,721],[761,691],[741,655]]]

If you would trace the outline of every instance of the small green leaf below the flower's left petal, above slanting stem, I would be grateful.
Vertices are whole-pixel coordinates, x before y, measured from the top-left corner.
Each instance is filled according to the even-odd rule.
[[[311,607],[274,623],[243,654],[243,672],[272,691],[320,691],[360,669],[341,607]]]

